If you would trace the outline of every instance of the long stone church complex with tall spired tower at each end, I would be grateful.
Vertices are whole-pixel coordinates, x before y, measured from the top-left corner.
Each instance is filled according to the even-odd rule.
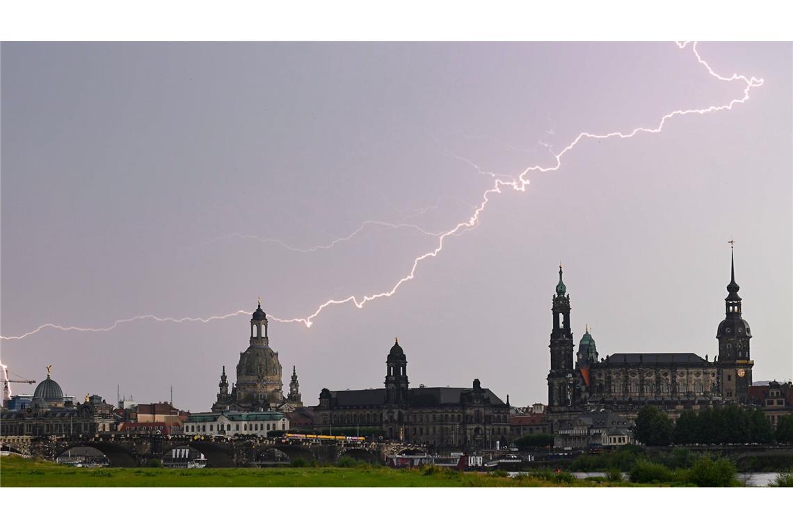
[[[573,355],[570,296],[560,265],[552,305],[549,412],[634,410],[648,404],[672,410],[747,403],[754,365],[749,356],[752,332],[743,319],[732,250],[730,254],[726,316],[718,324],[718,356],[712,361],[694,353],[618,353],[601,358],[589,328]]]

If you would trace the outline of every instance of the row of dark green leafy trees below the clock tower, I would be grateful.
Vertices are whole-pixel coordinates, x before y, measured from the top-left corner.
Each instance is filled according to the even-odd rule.
[[[675,422],[654,406],[638,413],[634,438],[649,447],[675,444],[793,443],[793,414],[781,416],[776,431],[760,408],[705,408],[683,412]]]

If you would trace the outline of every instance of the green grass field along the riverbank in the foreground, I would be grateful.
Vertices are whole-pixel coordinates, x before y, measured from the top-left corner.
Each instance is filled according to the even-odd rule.
[[[84,469],[53,462],[0,458],[2,487],[559,487],[631,486],[630,483],[554,481],[540,477],[496,477],[431,467],[393,470],[385,467],[277,469]]]

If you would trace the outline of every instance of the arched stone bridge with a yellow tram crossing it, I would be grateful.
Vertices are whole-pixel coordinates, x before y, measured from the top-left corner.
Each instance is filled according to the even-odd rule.
[[[288,459],[335,462],[342,456],[366,462],[384,462],[391,454],[418,450],[391,443],[282,443],[281,439],[255,437],[209,437],[191,435],[7,435],[0,449],[55,461],[71,448],[90,447],[102,452],[110,466],[145,466],[151,459],[163,460],[175,448],[190,447],[204,454],[208,467],[256,466],[281,452]],[[278,450],[276,452],[275,450]],[[279,454],[280,455],[280,454]]]

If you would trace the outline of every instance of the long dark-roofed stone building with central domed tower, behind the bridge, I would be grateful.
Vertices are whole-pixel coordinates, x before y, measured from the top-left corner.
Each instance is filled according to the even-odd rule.
[[[384,389],[323,389],[315,431],[377,431],[385,439],[428,450],[495,448],[510,435],[509,405],[474,380],[470,388],[410,388],[407,358],[397,340],[386,358]]]

